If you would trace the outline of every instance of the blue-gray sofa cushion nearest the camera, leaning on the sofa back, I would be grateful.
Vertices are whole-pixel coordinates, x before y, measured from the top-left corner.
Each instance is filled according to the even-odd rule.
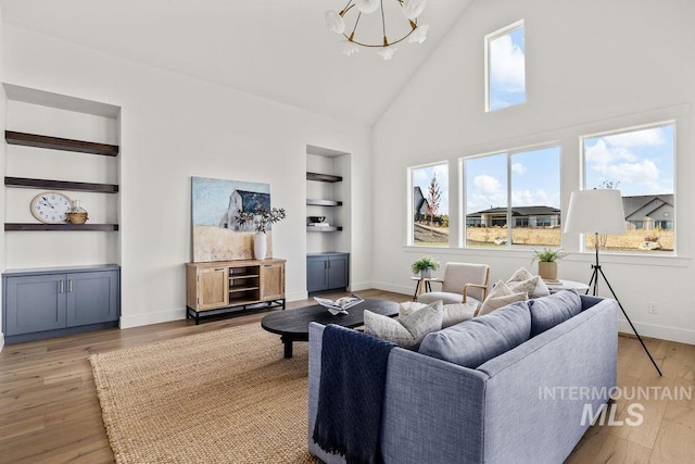
[[[465,367],[484,362],[523,343],[531,333],[528,301],[429,334],[419,352]]]

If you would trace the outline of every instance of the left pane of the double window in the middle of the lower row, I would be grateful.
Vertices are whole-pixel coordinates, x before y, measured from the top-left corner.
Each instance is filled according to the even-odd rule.
[[[466,246],[507,243],[507,154],[473,158],[466,173]]]

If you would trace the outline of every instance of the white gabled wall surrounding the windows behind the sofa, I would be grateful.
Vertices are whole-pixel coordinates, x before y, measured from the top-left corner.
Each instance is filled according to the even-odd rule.
[[[406,247],[407,166],[450,163],[450,223],[458,234],[459,158],[555,141],[566,209],[579,188],[579,135],[677,118],[679,258],[604,255],[602,264],[641,334],[695,343],[693,17],[695,2],[686,0],[476,0],[375,126],[376,287],[412,291],[409,264],[425,254],[490,263],[493,280],[531,266],[530,251]],[[483,37],[521,18],[527,103],[485,113]],[[587,281],[592,255],[579,252],[579,237],[563,240],[572,254],[560,277]],[[647,313],[649,301],[659,314]],[[627,323],[621,329],[630,331]]]

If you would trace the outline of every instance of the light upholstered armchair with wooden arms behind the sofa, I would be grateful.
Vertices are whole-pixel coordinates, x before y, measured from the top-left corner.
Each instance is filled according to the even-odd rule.
[[[448,303],[480,303],[488,296],[490,266],[486,264],[446,263],[444,277],[433,279],[442,285],[441,291],[429,291],[417,297],[421,303],[442,300]]]

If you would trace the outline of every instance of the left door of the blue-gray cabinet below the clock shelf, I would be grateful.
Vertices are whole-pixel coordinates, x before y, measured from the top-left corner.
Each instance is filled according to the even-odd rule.
[[[65,327],[65,274],[9,277],[5,289],[8,336]]]

